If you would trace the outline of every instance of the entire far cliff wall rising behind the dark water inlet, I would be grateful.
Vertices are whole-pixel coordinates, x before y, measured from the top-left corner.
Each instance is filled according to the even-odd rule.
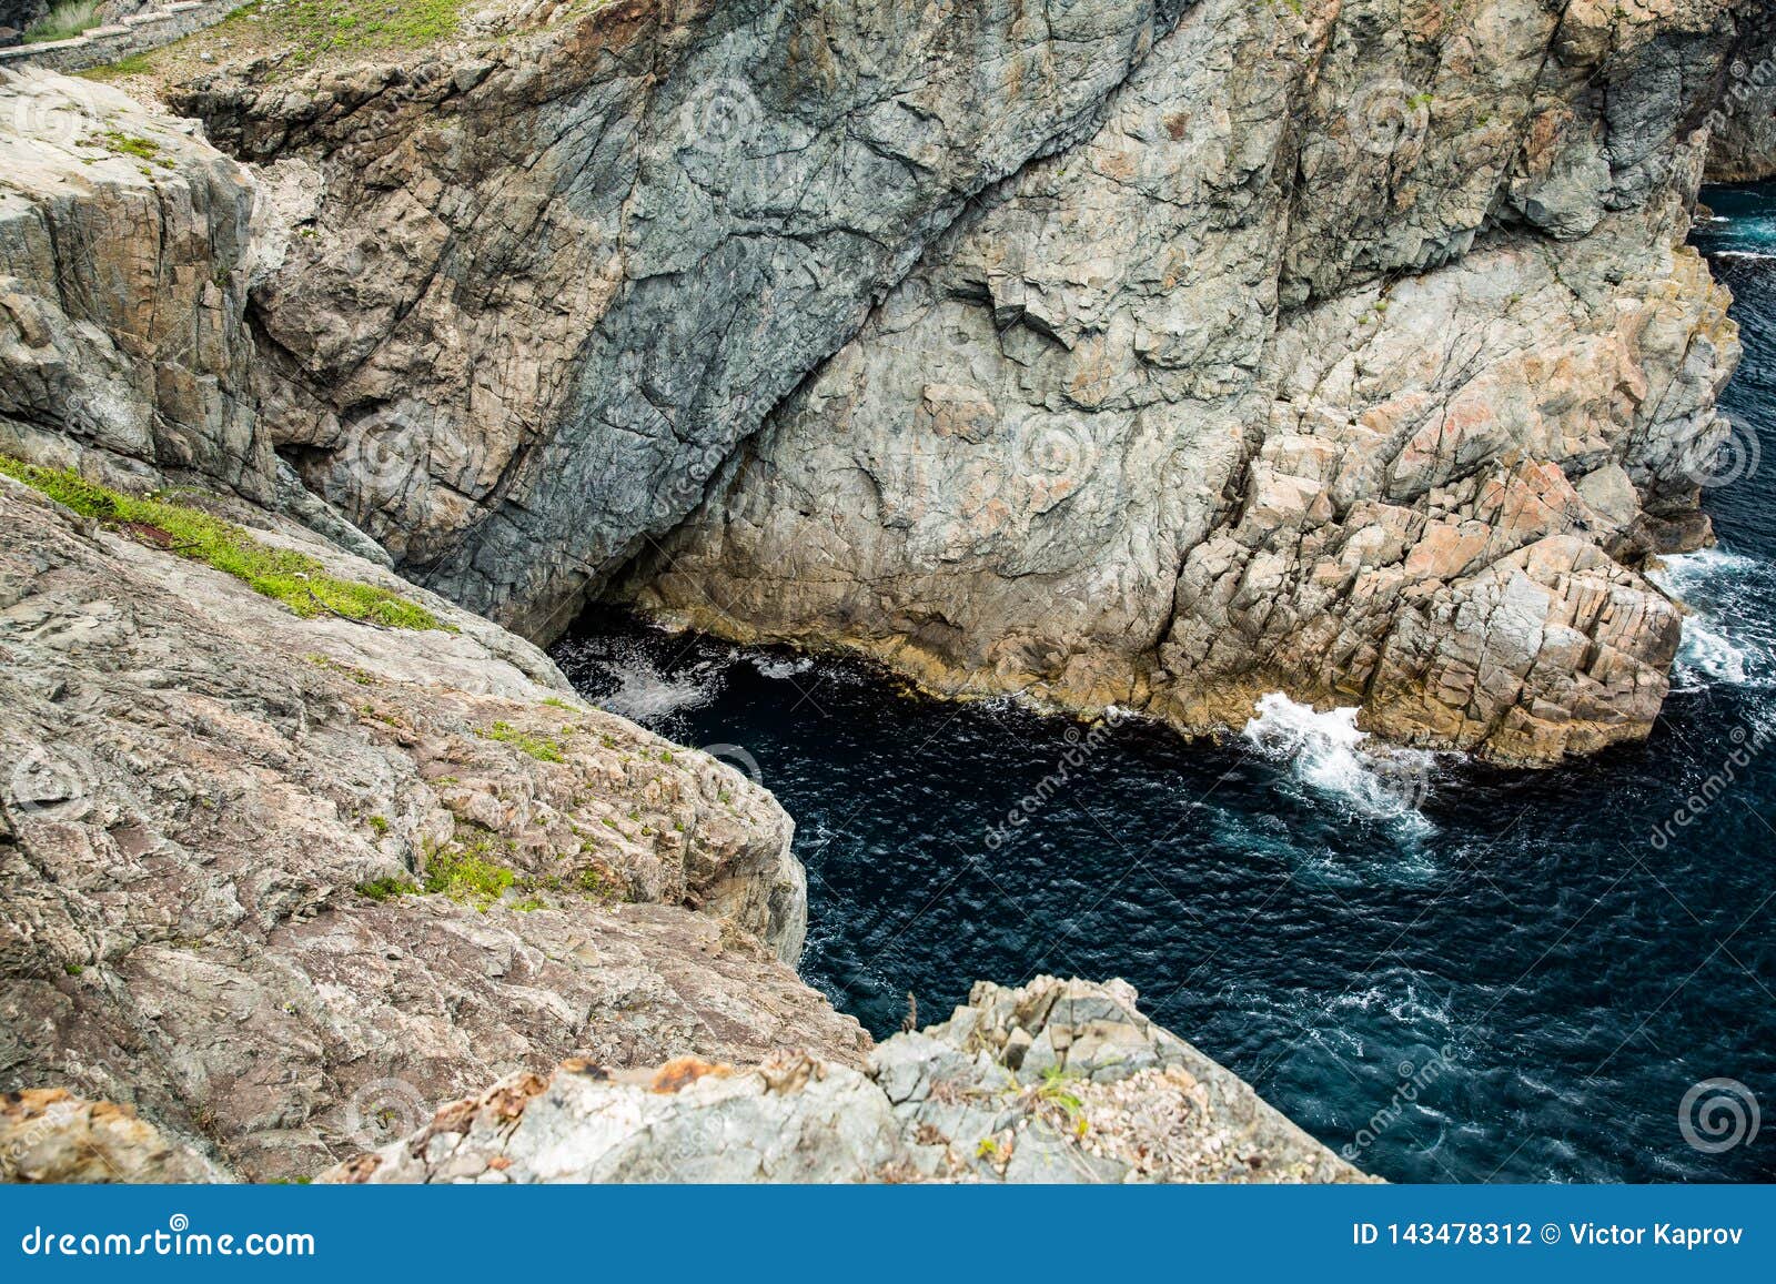
[[[1756,12],[542,5],[170,99],[275,197],[270,437],[455,600],[1549,762],[1666,693]]]

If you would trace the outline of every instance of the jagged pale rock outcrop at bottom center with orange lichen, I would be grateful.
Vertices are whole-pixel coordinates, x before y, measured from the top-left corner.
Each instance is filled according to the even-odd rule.
[[[805,1055],[568,1062],[442,1106],[321,1181],[1364,1181],[1135,991],[979,984],[865,1073]]]

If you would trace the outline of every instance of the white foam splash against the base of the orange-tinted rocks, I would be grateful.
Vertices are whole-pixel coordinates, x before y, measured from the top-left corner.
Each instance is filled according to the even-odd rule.
[[[1435,755],[1375,744],[1357,728],[1355,709],[1321,714],[1272,691],[1257,701],[1245,739],[1272,762],[1288,762],[1302,785],[1357,815],[1430,828],[1419,804],[1430,792]]]

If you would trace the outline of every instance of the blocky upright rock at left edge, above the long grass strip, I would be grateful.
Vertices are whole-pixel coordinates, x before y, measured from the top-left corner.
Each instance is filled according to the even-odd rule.
[[[0,83],[0,453],[103,451],[274,503],[254,421],[252,179],[190,121],[44,71]]]

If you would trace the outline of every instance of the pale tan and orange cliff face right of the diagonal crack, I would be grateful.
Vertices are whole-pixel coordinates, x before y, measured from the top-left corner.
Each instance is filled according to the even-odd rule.
[[[1739,357],[1680,249],[1730,46],[1707,4],[1204,0],[629,591],[1186,730],[1280,689],[1504,762],[1643,737],[1678,616],[1636,568],[1701,538],[1664,517]]]

